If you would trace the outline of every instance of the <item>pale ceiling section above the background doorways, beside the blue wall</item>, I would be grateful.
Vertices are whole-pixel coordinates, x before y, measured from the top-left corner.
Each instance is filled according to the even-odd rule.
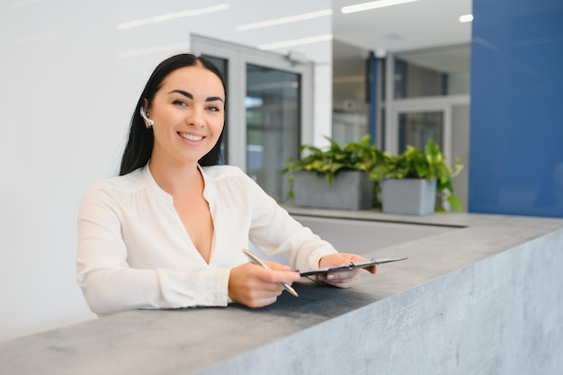
[[[472,13],[472,0],[418,0],[359,13],[341,12],[343,6],[362,1],[332,0],[335,40],[380,56],[392,52],[443,72],[469,71],[471,22],[461,23],[459,18]],[[346,52],[339,53],[335,51],[335,59],[346,58]]]

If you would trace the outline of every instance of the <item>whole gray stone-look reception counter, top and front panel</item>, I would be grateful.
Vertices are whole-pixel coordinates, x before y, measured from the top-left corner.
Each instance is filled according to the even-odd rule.
[[[266,308],[128,311],[5,341],[0,374],[563,373],[563,219],[288,210],[341,251],[408,259],[348,290],[303,279]]]

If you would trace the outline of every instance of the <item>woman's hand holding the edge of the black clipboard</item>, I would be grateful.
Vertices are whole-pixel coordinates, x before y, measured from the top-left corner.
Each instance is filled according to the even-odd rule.
[[[325,267],[336,267],[343,264],[349,264],[353,261],[365,261],[360,255],[356,254],[347,254],[347,253],[336,253],[325,255],[320,258],[318,261],[319,268]],[[376,272],[376,266],[372,265],[371,267],[363,268],[371,273]],[[351,271],[343,271],[343,272],[331,272],[326,274],[317,275],[317,281],[321,281],[325,284],[333,285],[338,288],[350,288],[356,281],[358,281],[360,277],[360,272],[362,272],[362,268],[355,268]]]

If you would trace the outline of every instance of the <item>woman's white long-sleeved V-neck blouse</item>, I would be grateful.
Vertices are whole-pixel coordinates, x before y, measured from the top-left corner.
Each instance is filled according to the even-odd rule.
[[[209,264],[147,165],[86,192],[76,265],[92,311],[227,306],[230,269],[248,262],[241,249],[249,240],[264,254],[283,254],[293,269],[317,268],[336,252],[239,168],[202,167],[201,174],[215,230]]]

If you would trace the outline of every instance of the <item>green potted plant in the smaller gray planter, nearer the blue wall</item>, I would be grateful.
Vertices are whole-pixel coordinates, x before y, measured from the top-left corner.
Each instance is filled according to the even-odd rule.
[[[370,178],[379,183],[376,194],[383,212],[424,215],[443,211],[444,198],[452,210],[461,210],[451,179],[462,168],[459,157],[447,165],[440,147],[430,139],[424,150],[407,146],[401,155],[383,153]]]

